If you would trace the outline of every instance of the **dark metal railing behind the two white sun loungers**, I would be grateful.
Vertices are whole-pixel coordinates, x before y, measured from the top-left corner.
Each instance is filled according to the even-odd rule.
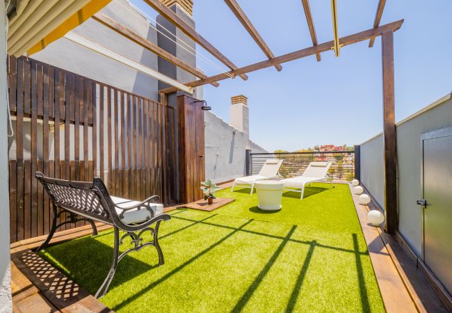
[[[328,176],[334,181],[351,181],[355,175],[353,151],[251,153],[249,174],[258,174],[267,159],[284,160],[280,168],[284,177],[302,175],[313,161],[332,162]]]

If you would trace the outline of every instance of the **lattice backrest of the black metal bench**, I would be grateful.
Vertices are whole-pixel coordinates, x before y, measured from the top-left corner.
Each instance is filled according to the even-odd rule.
[[[36,173],[49,197],[58,207],[75,214],[113,225],[111,212],[115,211],[113,201],[102,179],[95,177],[92,182],[73,182],[49,178]]]

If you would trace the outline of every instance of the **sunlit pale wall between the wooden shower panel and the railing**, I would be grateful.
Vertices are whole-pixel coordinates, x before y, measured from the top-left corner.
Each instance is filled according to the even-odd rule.
[[[236,129],[211,111],[204,111],[204,122],[206,179],[226,182],[245,176],[245,150],[268,152],[250,141],[248,132]]]

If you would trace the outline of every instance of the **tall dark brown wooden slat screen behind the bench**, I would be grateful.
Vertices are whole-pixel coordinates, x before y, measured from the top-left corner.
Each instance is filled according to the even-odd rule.
[[[32,59],[8,61],[11,242],[49,232],[51,204],[37,171],[81,181],[99,175],[111,195],[178,202],[172,107]]]

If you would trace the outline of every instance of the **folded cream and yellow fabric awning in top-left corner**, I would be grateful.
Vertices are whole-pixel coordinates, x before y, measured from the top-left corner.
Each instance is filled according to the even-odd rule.
[[[22,0],[24,1],[24,0]],[[25,0],[20,15],[10,20],[8,54],[22,56],[44,49],[79,26],[111,0]]]

